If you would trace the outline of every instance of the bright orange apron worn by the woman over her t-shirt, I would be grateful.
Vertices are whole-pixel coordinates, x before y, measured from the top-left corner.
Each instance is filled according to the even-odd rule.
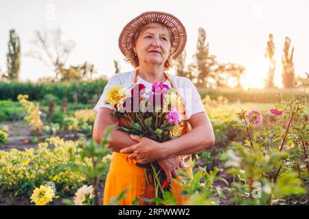
[[[139,69],[136,70],[134,85],[137,83],[137,75],[139,73]],[[170,76],[165,73],[165,76],[170,81],[172,88],[174,88],[174,84],[170,79]],[[182,114],[185,114],[184,102],[182,101]],[[187,133],[191,130],[191,127],[187,120],[183,121],[183,130],[182,134]],[[118,126],[122,125],[124,120],[119,119]],[[120,124],[122,123],[122,124]],[[190,155],[183,155],[180,157],[186,157],[185,162],[187,164],[191,164],[192,159]],[[119,205],[132,205],[132,202],[135,198],[155,198],[155,185],[153,182],[150,185],[146,183],[146,177],[144,174],[144,169],[136,166],[137,162],[133,159],[128,159],[128,154],[122,154],[113,152],[111,157],[111,165],[108,171],[108,175],[106,177],[105,186],[104,186],[104,197],[103,197],[103,205],[108,205],[110,198],[115,198],[119,196],[119,194],[126,188],[128,191],[126,192],[126,197],[119,201]],[[187,167],[188,175],[192,177],[192,167]],[[152,178],[152,177],[150,177]],[[176,178],[176,181],[173,179],[171,183],[170,192],[176,198],[176,205],[182,205],[183,201],[187,200],[187,195],[182,195],[181,193],[181,185],[179,185],[180,180],[179,176]],[[150,205],[148,202],[139,201],[138,205]]]

